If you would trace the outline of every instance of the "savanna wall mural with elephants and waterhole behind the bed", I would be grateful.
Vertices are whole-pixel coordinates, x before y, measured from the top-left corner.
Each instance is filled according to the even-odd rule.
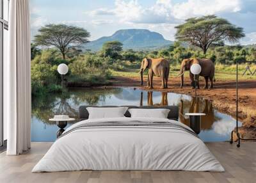
[[[48,118],[60,111],[76,118],[82,104],[130,104],[179,106],[185,124],[184,113],[207,113],[200,138],[227,141],[236,125],[236,61],[256,61],[255,21],[243,17],[256,12],[242,1],[195,2],[31,0],[32,140],[54,140]],[[68,66],[63,93],[60,63]],[[195,63],[199,85],[189,72]],[[238,72],[239,131],[253,138],[255,63]]]

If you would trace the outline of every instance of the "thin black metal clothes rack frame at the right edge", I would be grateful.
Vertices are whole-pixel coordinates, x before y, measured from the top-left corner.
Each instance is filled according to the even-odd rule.
[[[236,133],[238,138],[237,147],[240,147],[241,140],[256,140],[256,139],[244,139],[241,138],[240,133],[238,132],[238,63],[256,63],[256,61],[236,61],[236,129],[231,132],[231,140],[230,143],[233,143],[233,134]]]

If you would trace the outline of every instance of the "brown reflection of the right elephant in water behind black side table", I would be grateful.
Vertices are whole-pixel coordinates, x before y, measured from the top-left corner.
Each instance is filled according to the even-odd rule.
[[[201,103],[201,104],[200,104]],[[205,113],[205,116],[201,116],[201,129],[211,129],[212,124],[216,121],[214,118],[214,109],[212,107],[212,102],[209,100],[204,100],[204,110],[200,111],[200,105],[203,105],[200,99],[193,97],[191,105],[189,107],[188,113]],[[180,108],[179,108],[179,120],[185,125],[190,126],[189,118],[185,118],[184,116],[184,101],[180,100]]]

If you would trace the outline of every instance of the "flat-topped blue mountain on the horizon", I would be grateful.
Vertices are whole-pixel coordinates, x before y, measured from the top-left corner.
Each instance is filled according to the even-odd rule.
[[[117,40],[122,42],[124,49],[152,50],[160,49],[173,44],[170,40],[165,40],[163,35],[149,31],[147,29],[122,29],[116,31],[111,36],[104,36],[83,45],[83,49],[99,51],[104,42]]]

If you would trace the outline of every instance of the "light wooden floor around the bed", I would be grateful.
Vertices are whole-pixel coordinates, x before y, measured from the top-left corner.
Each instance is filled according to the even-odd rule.
[[[256,182],[256,143],[240,148],[228,142],[206,143],[224,166],[225,172],[194,171],[70,171],[31,173],[52,143],[32,143],[31,150],[19,156],[0,154],[0,182]]]

